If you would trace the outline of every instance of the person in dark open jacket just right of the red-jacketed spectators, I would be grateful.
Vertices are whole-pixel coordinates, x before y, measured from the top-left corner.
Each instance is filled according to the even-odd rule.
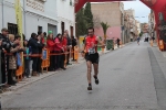
[[[72,47],[72,41],[71,41],[71,38],[69,36],[69,31],[65,30],[64,32],[66,33],[66,40],[68,40],[66,51],[69,52],[69,54],[66,56],[66,65],[72,65],[72,64],[70,64],[70,55],[71,55],[70,50]]]

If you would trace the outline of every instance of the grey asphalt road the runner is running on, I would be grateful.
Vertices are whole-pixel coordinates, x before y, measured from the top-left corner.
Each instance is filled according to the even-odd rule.
[[[100,85],[87,91],[86,65],[2,97],[4,110],[166,110],[166,79],[148,43],[100,58]],[[156,51],[157,53],[157,51]],[[158,52],[159,53],[159,52]]]

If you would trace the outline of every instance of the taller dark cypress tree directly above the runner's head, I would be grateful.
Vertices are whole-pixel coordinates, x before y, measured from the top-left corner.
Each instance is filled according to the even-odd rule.
[[[94,26],[93,25],[93,14],[91,11],[91,3],[87,2],[85,6],[85,10],[84,10],[84,16],[85,16],[85,21],[86,21],[86,29],[89,29],[90,26]]]

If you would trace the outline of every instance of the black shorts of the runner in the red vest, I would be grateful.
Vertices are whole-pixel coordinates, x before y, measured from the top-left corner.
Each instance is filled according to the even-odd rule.
[[[91,62],[92,64],[98,64],[100,55],[98,53],[95,53],[95,54],[85,53],[85,59],[86,62]]]

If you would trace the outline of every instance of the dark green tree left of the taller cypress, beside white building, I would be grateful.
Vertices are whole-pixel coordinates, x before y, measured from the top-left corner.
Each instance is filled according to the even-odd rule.
[[[76,13],[75,20],[76,20],[76,36],[85,35],[86,34],[86,21],[85,21],[83,8]]]

